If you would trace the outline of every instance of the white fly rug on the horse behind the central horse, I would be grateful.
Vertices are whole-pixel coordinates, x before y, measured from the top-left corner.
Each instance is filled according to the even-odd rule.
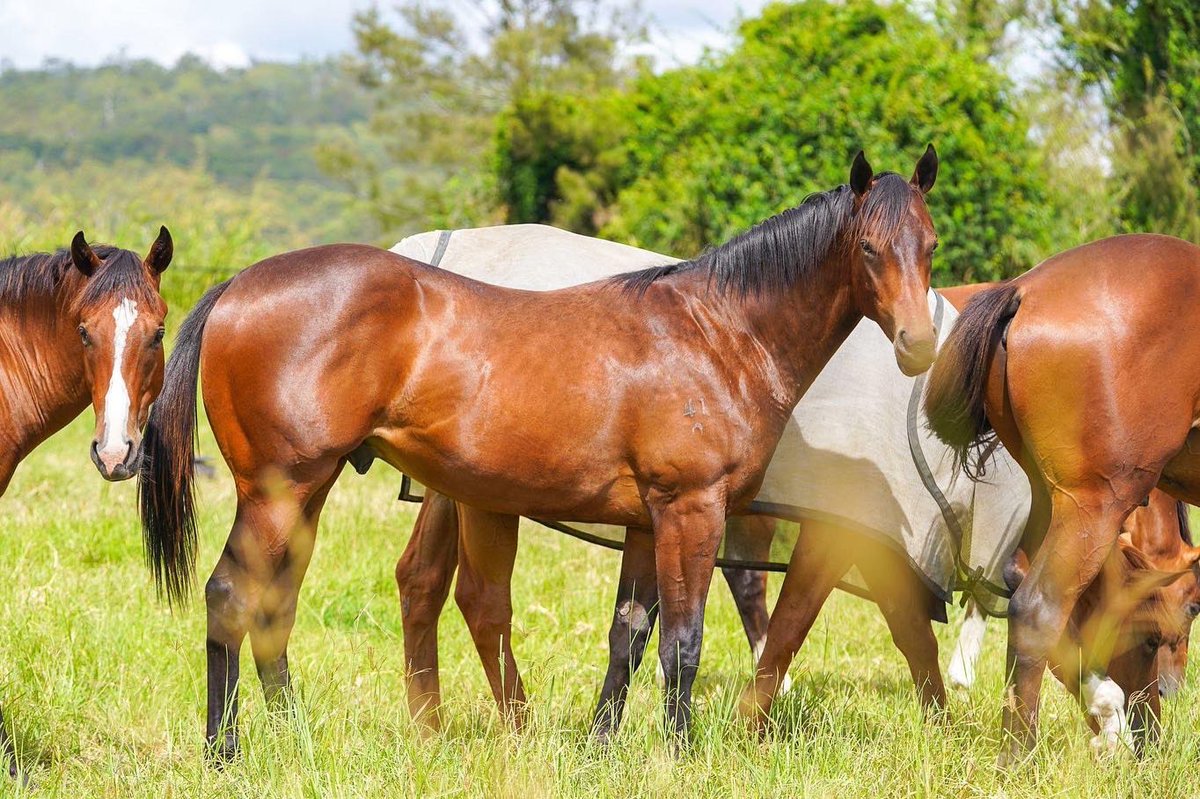
[[[392,252],[533,290],[677,260],[538,224],[433,230],[404,239]],[[934,292],[929,302],[944,341],[958,313]],[[892,343],[864,319],[796,407],[752,509],[802,525],[822,519],[874,535],[907,555],[938,599],[968,591],[988,612],[1002,614],[1008,595],[1002,569],[1028,515],[1028,483],[1002,450],[986,482],[960,476],[950,451],[925,427],[924,384],[924,376],[901,374]],[[406,477],[402,497],[419,495],[420,487]],[[538,521],[595,543],[624,541],[623,528]],[[766,563],[737,557],[743,547],[726,541],[721,564],[786,569],[796,534],[793,525],[779,525]],[[842,587],[863,593],[854,576]]]

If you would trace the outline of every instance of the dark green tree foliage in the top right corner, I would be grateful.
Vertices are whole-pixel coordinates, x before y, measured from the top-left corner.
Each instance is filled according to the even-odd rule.
[[[1099,88],[1124,229],[1200,239],[1200,5],[1058,0],[1064,66]]]

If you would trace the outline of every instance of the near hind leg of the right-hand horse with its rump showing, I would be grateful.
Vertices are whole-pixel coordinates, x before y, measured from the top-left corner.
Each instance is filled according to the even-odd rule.
[[[1134,491],[1121,493],[1139,495]],[[1099,575],[1121,523],[1136,506],[1136,500],[1116,501],[1114,494],[1108,485],[1051,492],[1045,539],[1008,606],[1002,768],[1033,749],[1046,666],[1054,660],[1080,594]]]

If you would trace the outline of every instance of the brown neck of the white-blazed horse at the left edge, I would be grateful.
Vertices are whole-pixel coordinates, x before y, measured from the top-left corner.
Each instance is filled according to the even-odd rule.
[[[71,290],[64,284],[61,290]],[[78,320],[56,296],[28,298],[0,314],[0,435],[24,453],[86,407]]]

